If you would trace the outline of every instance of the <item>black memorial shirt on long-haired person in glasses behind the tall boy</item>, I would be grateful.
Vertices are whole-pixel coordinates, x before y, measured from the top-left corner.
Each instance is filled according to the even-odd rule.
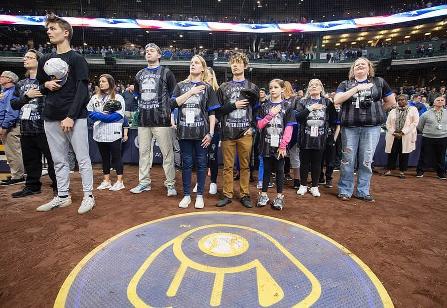
[[[23,79],[17,83],[14,89],[13,96],[20,97],[20,101],[26,102],[24,95],[31,88],[38,88],[39,82],[37,79]],[[23,105],[19,112],[20,118],[20,133],[22,135],[36,135],[44,133],[43,130],[43,101],[45,96],[30,98],[29,101]]]

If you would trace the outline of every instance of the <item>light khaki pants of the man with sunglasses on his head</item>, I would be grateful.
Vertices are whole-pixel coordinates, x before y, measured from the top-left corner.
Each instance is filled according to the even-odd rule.
[[[175,184],[174,150],[172,148],[171,127],[138,127],[138,146],[140,152],[140,170],[138,172],[139,183],[150,185],[151,153],[153,151],[152,137],[157,140],[163,155],[163,170],[166,176],[165,186]]]

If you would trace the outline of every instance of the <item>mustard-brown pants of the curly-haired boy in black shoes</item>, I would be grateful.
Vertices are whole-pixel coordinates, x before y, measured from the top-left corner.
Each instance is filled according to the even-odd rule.
[[[233,167],[236,159],[236,145],[239,153],[240,166],[240,197],[249,194],[248,183],[250,180],[250,156],[252,151],[252,135],[246,134],[239,139],[222,141],[223,155],[223,195],[233,198]]]

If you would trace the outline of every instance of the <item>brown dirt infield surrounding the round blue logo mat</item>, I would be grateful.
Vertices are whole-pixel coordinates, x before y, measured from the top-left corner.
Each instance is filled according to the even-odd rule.
[[[140,195],[129,193],[138,182],[138,168],[125,166],[124,172],[126,189],[95,191],[97,206],[86,215],[76,212],[82,199],[78,173],[71,176],[74,205],[47,213],[36,212],[37,206],[52,197],[47,176],[39,195],[13,199],[10,193],[20,189],[19,185],[0,187],[0,307],[52,307],[70,271],[105,240],[143,222],[199,211],[193,205],[178,208],[181,172],[177,173],[177,197],[166,196],[159,166],[151,172],[152,190]],[[218,192],[222,192],[220,173]],[[421,179],[413,174],[404,180],[374,175],[373,204],[338,201],[336,188],[320,188],[320,198],[298,196],[293,183],[286,181],[283,211],[245,209],[236,198],[222,210],[290,220],[332,238],[370,266],[395,307],[446,307],[447,181],[435,178],[434,173]],[[96,187],[102,179],[100,167],[94,168],[94,176]],[[335,183],[337,177],[335,173]],[[208,185],[209,177],[203,211],[219,211],[214,204],[220,195],[209,195]],[[252,200],[258,191],[251,183]],[[271,189],[271,196],[273,192]]]

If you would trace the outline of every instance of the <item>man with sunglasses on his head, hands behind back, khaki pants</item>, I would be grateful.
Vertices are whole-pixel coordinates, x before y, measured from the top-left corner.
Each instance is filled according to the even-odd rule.
[[[140,151],[140,171],[138,185],[130,190],[139,194],[149,191],[150,155],[152,137],[155,137],[163,155],[164,185],[168,196],[176,196],[174,150],[172,147],[170,97],[176,86],[174,74],[160,65],[161,49],[156,44],[146,45],[148,67],[135,77],[134,95],[140,99],[138,111],[138,144]]]

